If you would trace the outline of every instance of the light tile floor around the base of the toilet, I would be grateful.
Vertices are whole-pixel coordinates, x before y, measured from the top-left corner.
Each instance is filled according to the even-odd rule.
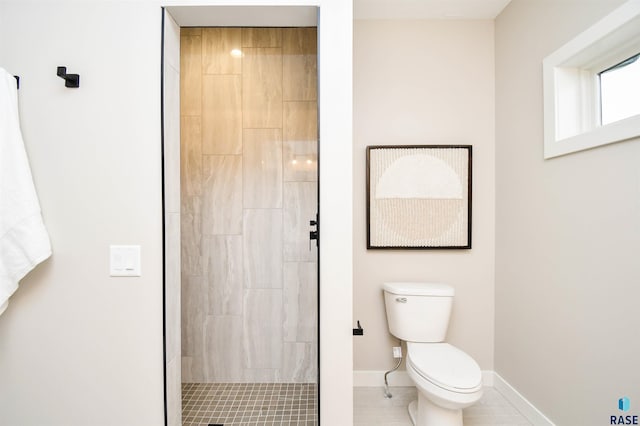
[[[417,398],[414,387],[392,387],[393,397],[384,397],[381,387],[353,390],[354,426],[412,426],[407,407]],[[465,426],[531,426],[494,388],[485,388],[482,399],[463,411]]]

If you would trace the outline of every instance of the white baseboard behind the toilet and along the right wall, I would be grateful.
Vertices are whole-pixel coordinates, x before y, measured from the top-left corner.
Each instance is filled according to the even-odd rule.
[[[354,370],[354,387],[382,387],[384,386],[384,371]],[[406,370],[398,370],[387,376],[389,386],[414,386]],[[498,373],[492,370],[482,370],[482,384],[495,388],[534,426],[555,426],[540,410],[531,404],[524,396],[513,388]]]

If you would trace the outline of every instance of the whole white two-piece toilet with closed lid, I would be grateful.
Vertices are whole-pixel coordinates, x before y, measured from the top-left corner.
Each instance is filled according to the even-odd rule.
[[[409,404],[415,426],[462,426],[462,409],[482,397],[482,373],[445,343],[455,290],[442,283],[385,283],[389,331],[407,342],[406,367],[418,389]]]

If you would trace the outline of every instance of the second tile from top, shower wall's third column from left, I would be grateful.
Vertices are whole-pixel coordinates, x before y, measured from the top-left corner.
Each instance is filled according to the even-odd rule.
[[[242,121],[245,129],[282,128],[282,49],[244,48]]]

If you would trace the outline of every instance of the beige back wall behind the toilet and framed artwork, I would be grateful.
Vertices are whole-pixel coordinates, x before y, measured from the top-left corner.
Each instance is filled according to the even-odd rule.
[[[448,341],[493,369],[493,21],[356,21],[354,25],[354,370],[393,366],[382,283],[456,289]],[[365,148],[473,145],[473,248],[366,249]]]

